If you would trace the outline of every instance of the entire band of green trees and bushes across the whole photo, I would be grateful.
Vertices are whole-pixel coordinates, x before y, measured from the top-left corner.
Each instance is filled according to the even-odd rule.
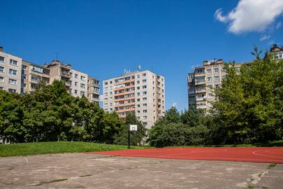
[[[255,50],[256,58],[236,69],[224,65],[222,87],[214,90],[212,109],[172,107],[150,130],[129,114],[103,111],[85,97],[68,94],[62,81],[40,85],[30,94],[0,91],[0,142],[89,141],[127,144],[130,124],[138,125],[131,145],[242,144],[282,139],[283,61]]]

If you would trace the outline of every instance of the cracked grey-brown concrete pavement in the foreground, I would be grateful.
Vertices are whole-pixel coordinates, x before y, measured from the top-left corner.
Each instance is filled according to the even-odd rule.
[[[65,153],[0,158],[0,188],[282,188],[283,165]]]

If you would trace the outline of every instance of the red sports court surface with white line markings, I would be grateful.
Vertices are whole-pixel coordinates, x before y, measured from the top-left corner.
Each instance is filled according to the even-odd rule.
[[[171,147],[90,153],[175,160],[283,163],[283,147]]]

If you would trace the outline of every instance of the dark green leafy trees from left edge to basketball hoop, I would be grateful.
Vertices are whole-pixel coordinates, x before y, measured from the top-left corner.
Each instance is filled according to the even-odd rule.
[[[129,122],[139,126],[131,140],[132,145],[139,145],[145,127],[136,116],[122,120],[117,113],[103,111],[86,97],[73,97],[62,81],[41,85],[24,95],[0,91],[1,143],[89,141],[126,145],[124,133]]]

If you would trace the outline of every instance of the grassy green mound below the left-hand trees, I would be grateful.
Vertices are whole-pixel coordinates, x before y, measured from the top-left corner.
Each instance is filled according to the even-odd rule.
[[[49,153],[79,153],[92,151],[118,151],[125,150],[128,146],[95,144],[89,142],[38,142],[22,144],[1,144],[0,157],[18,155],[36,155]],[[131,146],[131,148],[150,148],[149,146]]]

